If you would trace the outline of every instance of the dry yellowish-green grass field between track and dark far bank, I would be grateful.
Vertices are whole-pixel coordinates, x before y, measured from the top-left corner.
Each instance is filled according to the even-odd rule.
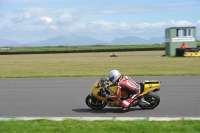
[[[107,76],[118,69],[130,76],[200,75],[199,57],[162,57],[165,51],[0,55],[0,77]]]

